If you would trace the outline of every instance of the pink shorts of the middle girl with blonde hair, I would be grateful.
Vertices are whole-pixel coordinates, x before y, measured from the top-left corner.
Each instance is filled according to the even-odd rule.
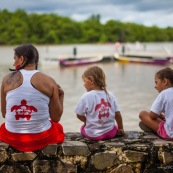
[[[118,126],[114,126],[114,128],[112,130],[110,130],[109,132],[101,135],[101,136],[98,136],[98,137],[90,137],[86,134],[85,132],[85,128],[82,126],[81,127],[81,133],[87,137],[88,139],[91,139],[91,140],[104,140],[104,139],[111,139],[113,137],[115,137],[115,135],[117,134],[118,132]]]

